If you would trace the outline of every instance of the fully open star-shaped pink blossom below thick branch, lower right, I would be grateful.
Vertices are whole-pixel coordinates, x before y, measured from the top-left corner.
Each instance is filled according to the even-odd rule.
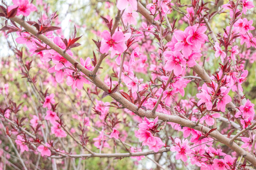
[[[175,138],[175,145],[171,147],[170,149],[172,152],[177,152],[175,159],[182,161],[187,161],[187,156],[192,153],[192,150],[190,149],[190,146],[188,145],[188,140],[183,139],[182,142],[179,138]]]

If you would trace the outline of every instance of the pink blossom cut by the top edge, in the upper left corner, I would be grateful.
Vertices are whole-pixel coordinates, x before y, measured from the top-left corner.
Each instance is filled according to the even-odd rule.
[[[14,3],[15,8],[18,6],[17,16],[23,15],[27,17],[30,12],[37,10],[37,7],[34,4],[29,3],[28,0],[12,0],[12,2]]]

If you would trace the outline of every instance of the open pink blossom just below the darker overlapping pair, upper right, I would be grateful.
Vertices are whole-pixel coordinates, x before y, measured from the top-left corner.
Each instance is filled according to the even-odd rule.
[[[186,67],[186,61],[183,59],[183,55],[178,51],[165,51],[164,56],[167,60],[165,63],[165,70],[174,70],[174,75],[179,76],[182,73],[183,68]]]

